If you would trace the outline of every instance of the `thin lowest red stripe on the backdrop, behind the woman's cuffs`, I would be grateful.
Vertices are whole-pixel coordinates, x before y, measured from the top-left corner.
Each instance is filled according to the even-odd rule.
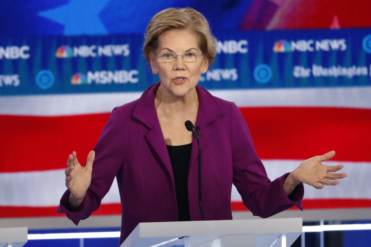
[[[306,209],[336,209],[336,208],[371,208],[371,199],[305,199],[303,208]],[[248,211],[240,201],[231,203],[232,211]],[[57,207],[4,207],[0,206],[0,218],[23,218],[23,217],[50,217],[63,216],[56,213]],[[298,210],[296,207],[290,210]],[[101,207],[92,215],[119,215],[121,205],[119,203],[101,204]]]

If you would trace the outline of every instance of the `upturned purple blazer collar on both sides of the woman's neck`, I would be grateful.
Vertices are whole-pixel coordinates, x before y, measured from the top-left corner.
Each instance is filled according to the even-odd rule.
[[[160,82],[144,91],[134,109],[133,116],[148,128],[152,129],[158,121],[155,109],[155,97]],[[206,89],[196,86],[198,95],[198,112],[195,126],[207,126],[225,113],[225,110]]]

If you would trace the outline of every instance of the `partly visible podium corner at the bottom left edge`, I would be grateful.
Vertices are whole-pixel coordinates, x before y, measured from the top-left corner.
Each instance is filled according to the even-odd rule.
[[[0,228],[0,246],[22,247],[27,243],[27,227]]]

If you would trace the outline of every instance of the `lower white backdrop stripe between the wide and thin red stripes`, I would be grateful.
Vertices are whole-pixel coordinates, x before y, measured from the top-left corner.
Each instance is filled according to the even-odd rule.
[[[299,166],[299,160],[263,160],[268,177],[274,180]],[[305,184],[304,198],[364,198],[371,199],[371,162],[326,161],[325,164],[343,164],[341,172],[348,177],[337,186],[317,190]],[[64,170],[0,173],[1,206],[58,206],[66,190]],[[241,201],[236,188],[232,189],[232,201]],[[120,203],[117,181],[111,186],[102,203]]]

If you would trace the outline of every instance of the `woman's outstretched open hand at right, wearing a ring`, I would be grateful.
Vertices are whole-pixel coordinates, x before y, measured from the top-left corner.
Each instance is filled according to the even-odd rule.
[[[306,183],[317,189],[322,189],[325,185],[339,184],[339,181],[337,180],[347,177],[348,175],[346,173],[334,172],[340,170],[344,166],[326,166],[325,164],[322,164],[322,161],[329,160],[334,156],[335,151],[331,151],[324,155],[304,160],[300,166],[293,170],[286,178],[285,183],[283,184],[283,190],[289,195],[299,183]]]

